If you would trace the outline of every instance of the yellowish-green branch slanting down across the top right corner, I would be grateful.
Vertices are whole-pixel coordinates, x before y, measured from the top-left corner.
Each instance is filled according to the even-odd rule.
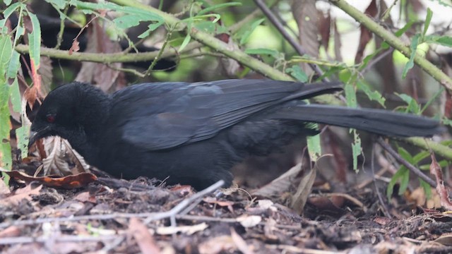
[[[340,9],[345,11],[352,18],[355,18],[358,23],[364,25],[367,29],[374,34],[381,37],[383,40],[388,42],[394,49],[397,49],[404,56],[410,58],[411,50],[409,47],[406,47],[405,44],[398,38],[396,35],[393,35],[392,32],[389,32],[381,25],[376,23],[374,20],[369,18],[366,14],[357,10],[357,8],[351,6],[345,0],[330,0],[332,4],[338,6]],[[429,73],[434,79],[438,80],[441,85],[444,85],[449,92],[452,92],[452,78],[449,78],[446,73],[442,72],[439,68],[434,66],[433,63],[427,61],[419,54],[415,54],[415,63],[420,66],[425,72]]]

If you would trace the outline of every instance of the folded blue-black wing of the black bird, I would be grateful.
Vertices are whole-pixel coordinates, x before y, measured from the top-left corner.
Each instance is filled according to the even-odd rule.
[[[111,114],[123,140],[148,150],[164,150],[212,138],[275,104],[340,87],[340,83],[277,80],[147,83],[116,92]]]

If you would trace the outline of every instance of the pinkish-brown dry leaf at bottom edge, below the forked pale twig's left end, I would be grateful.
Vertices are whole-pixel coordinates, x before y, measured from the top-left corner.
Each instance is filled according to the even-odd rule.
[[[154,237],[149,233],[148,228],[138,218],[131,218],[129,223],[129,234],[135,238],[140,247],[141,253],[158,254],[160,248],[157,247]]]

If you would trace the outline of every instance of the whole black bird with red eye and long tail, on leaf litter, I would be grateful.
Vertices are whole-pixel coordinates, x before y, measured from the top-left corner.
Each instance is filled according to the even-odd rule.
[[[302,101],[341,89],[340,83],[218,80],[145,83],[107,95],[74,82],[44,99],[30,145],[59,135],[114,176],[168,177],[168,184],[202,189],[220,179],[229,186],[230,168],[246,155],[267,155],[296,136],[314,135],[309,122],[400,137],[442,131],[422,116]]]

